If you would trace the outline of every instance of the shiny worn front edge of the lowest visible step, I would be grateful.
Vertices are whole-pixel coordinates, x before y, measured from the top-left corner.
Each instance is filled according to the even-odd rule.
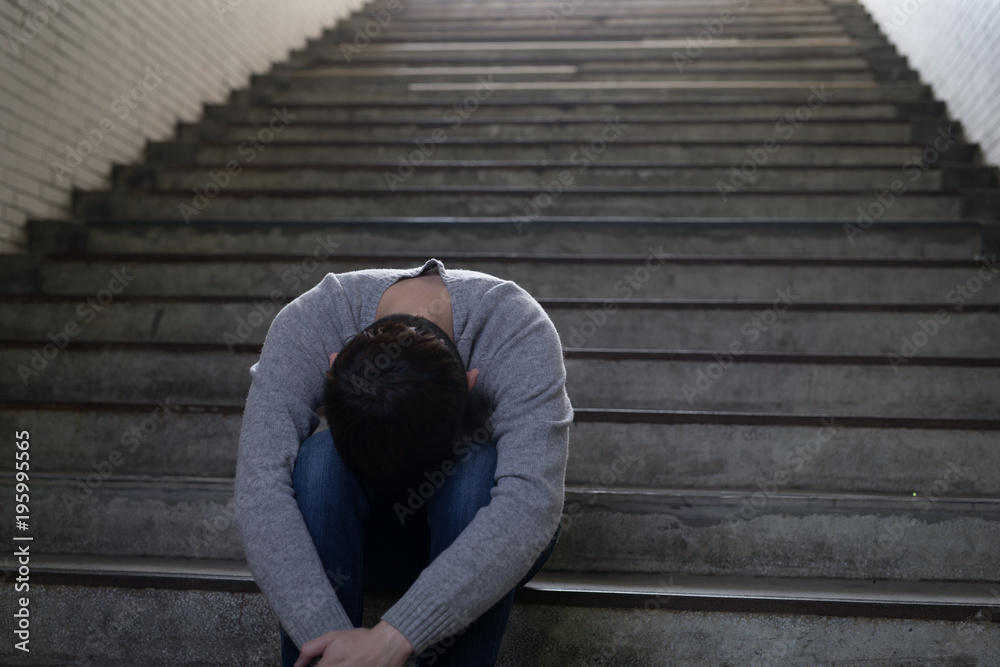
[[[0,572],[13,576],[14,559]],[[653,577],[657,582],[652,582]],[[712,577],[630,573],[550,573],[543,570],[518,592],[525,604],[735,611],[807,615],[879,616],[973,620],[996,607],[994,582],[897,582],[818,578]],[[260,593],[245,561],[156,557],[101,557],[40,554],[32,559],[32,582],[42,585],[100,586]],[[775,587],[785,592],[775,593]],[[792,588],[789,591],[788,588]],[[812,588],[813,590],[810,590]],[[797,589],[797,590],[794,590]],[[853,590],[852,590],[853,589]],[[946,590],[947,592],[943,592]],[[655,602],[651,607],[649,602]],[[1000,620],[998,618],[997,620]]]

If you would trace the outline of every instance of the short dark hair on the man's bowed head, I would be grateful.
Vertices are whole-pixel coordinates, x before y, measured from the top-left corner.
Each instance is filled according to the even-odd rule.
[[[323,401],[344,465],[395,494],[452,453],[469,394],[448,334],[423,317],[395,314],[347,342],[326,374]]]

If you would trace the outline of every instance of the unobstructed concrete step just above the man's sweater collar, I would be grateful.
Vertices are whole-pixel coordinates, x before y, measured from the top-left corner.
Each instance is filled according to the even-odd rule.
[[[596,167],[594,168],[596,169]],[[586,173],[589,173],[588,170]],[[414,177],[417,173],[414,172]],[[930,170],[927,177],[936,172]],[[848,241],[843,221],[803,219],[556,218],[542,216],[522,234],[510,218],[284,221],[29,221],[32,252],[204,255],[408,252],[431,256],[489,249],[505,253],[629,254],[663,243],[678,255],[971,259],[983,244],[977,222],[882,219]],[[4,266],[0,262],[0,268]]]

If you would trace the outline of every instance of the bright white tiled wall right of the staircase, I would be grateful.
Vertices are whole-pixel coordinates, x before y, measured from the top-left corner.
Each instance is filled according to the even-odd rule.
[[[1000,2],[861,0],[889,41],[1000,164]]]

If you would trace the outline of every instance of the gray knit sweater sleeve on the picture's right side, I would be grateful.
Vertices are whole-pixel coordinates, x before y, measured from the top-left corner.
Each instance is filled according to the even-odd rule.
[[[573,410],[555,326],[511,282],[487,291],[478,306],[471,367],[494,412],[496,485],[459,537],[383,619],[417,654],[462,632],[528,573],[562,514]]]

